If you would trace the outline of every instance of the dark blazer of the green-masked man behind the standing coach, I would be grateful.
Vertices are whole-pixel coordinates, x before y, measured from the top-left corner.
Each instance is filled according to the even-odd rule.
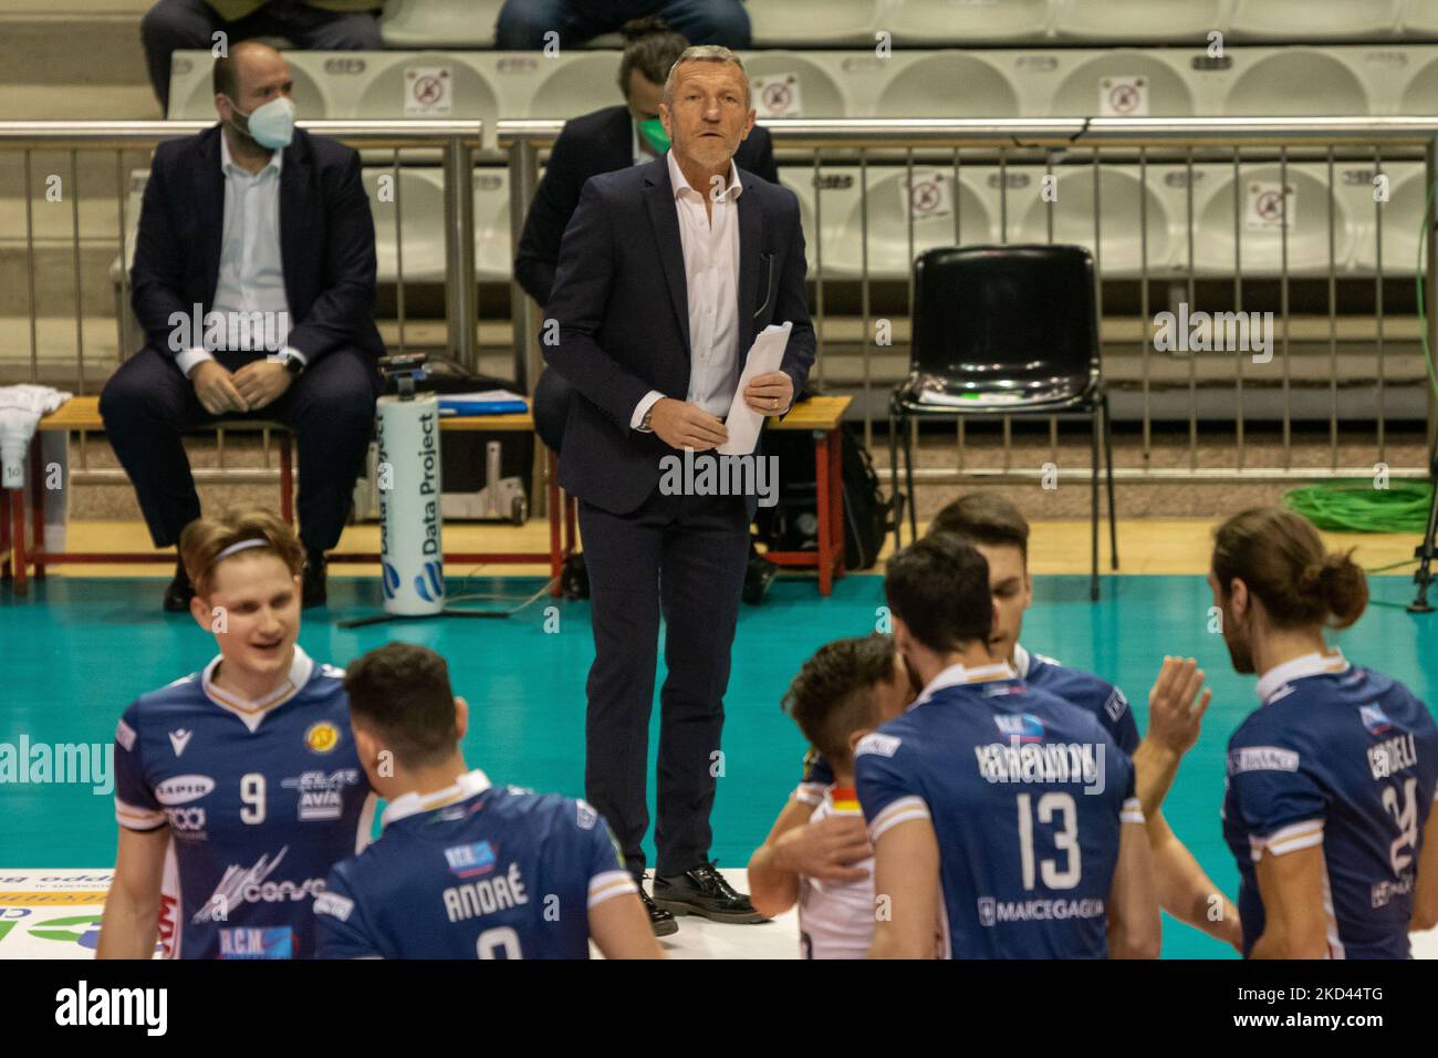
[[[605,107],[567,121],[554,143],[515,255],[515,278],[541,308],[549,304],[554,271],[559,263],[559,240],[580,204],[584,181],[634,166],[633,119],[627,107]],[[774,141],[768,130],[758,125],[739,141],[733,164],[771,184],[779,183]]]

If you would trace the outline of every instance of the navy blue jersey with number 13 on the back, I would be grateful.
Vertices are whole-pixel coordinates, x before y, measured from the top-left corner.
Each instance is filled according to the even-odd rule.
[[[940,956],[1107,956],[1119,833],[1143,812],[1132,761],[1093,713],[1007,665],[955,665],[858,743],[854,776],[876,844],[933,825]]]

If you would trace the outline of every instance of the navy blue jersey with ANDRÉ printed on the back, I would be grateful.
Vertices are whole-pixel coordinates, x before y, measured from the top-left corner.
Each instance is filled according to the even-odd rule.
[[[397,797],[315,901],[322,959],[588,959],[590,908],[637,894],[585,802],[492,787]]]

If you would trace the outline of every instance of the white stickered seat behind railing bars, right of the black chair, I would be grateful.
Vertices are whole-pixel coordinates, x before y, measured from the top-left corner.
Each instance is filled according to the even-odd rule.
[[[1229,275],[1234,269],[1234,173],[1206,181],[1205,199],[1194,206],[1194,261],[1199,272]],[[1280,167],[1250,166],[1242,170],[1244,186],[1238,206],[1242,209],[1240,239],[1244,275],[1278,275],[1283,262],[1283,225]],[[1329,271],[1329,191],[1327,167],[1290,164],[1287,206],[1288,272],[1326,275]],[[1353,255],[1353,217],[1345,196],[1333,197],[1333,256],[1343,272]],[[1181,217],[1181,223],[1183,219]]]

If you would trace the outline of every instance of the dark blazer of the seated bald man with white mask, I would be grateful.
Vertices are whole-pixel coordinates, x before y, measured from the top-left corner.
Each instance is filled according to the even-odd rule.
[[[135,318],[150,344],[173,356],[173,312],[209,312],[220,281],[224,174],[220,125],[155,148],[131,268]],[[289,344],[313,364],[335,348],[374,357],[374,217],[360,181],[360,153],[295,130],[279,184],[280,262]]]

